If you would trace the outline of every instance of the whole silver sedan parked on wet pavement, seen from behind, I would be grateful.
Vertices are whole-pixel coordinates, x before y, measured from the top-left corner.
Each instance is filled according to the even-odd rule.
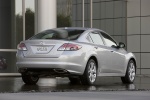
[[[93,85],[98,76],[119,76],[133,83],[136,58],[124,43],[94,28],[55,28],[18,44],[17,68],[26,84],[40,77],[68,77],[71,83]]]

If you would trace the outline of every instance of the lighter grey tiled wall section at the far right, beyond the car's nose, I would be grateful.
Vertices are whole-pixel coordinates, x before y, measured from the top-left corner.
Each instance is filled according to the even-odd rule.
[[[138,74],[150,74],[150,0],[127,0],[127,45],[138,62]]]

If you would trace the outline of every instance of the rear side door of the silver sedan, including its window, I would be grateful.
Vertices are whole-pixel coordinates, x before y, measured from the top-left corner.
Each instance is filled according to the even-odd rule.
[[[90,32],[89,36],[92,40],[92,43],[94,43],[93,51],[97,53],[97,59],[99,65],[98,73],[109,72],[109,69],[107,68],[108,66],[110,66],[110,63],[108,63],[111,61],[111,59],[109,58],[110,54],[108,53],[109,50],[107,50],[107,47],[104,44],[100,32],[98,31]]]

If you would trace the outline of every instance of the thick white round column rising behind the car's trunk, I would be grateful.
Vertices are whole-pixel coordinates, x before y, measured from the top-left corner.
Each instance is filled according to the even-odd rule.
[[[56,28],[56,0],[35,0],[35,33]]]

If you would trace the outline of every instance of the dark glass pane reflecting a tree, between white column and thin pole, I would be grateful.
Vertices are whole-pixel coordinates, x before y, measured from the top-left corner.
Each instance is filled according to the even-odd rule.
[[[82,0],[57,0],[57,27],[82,27]]]

